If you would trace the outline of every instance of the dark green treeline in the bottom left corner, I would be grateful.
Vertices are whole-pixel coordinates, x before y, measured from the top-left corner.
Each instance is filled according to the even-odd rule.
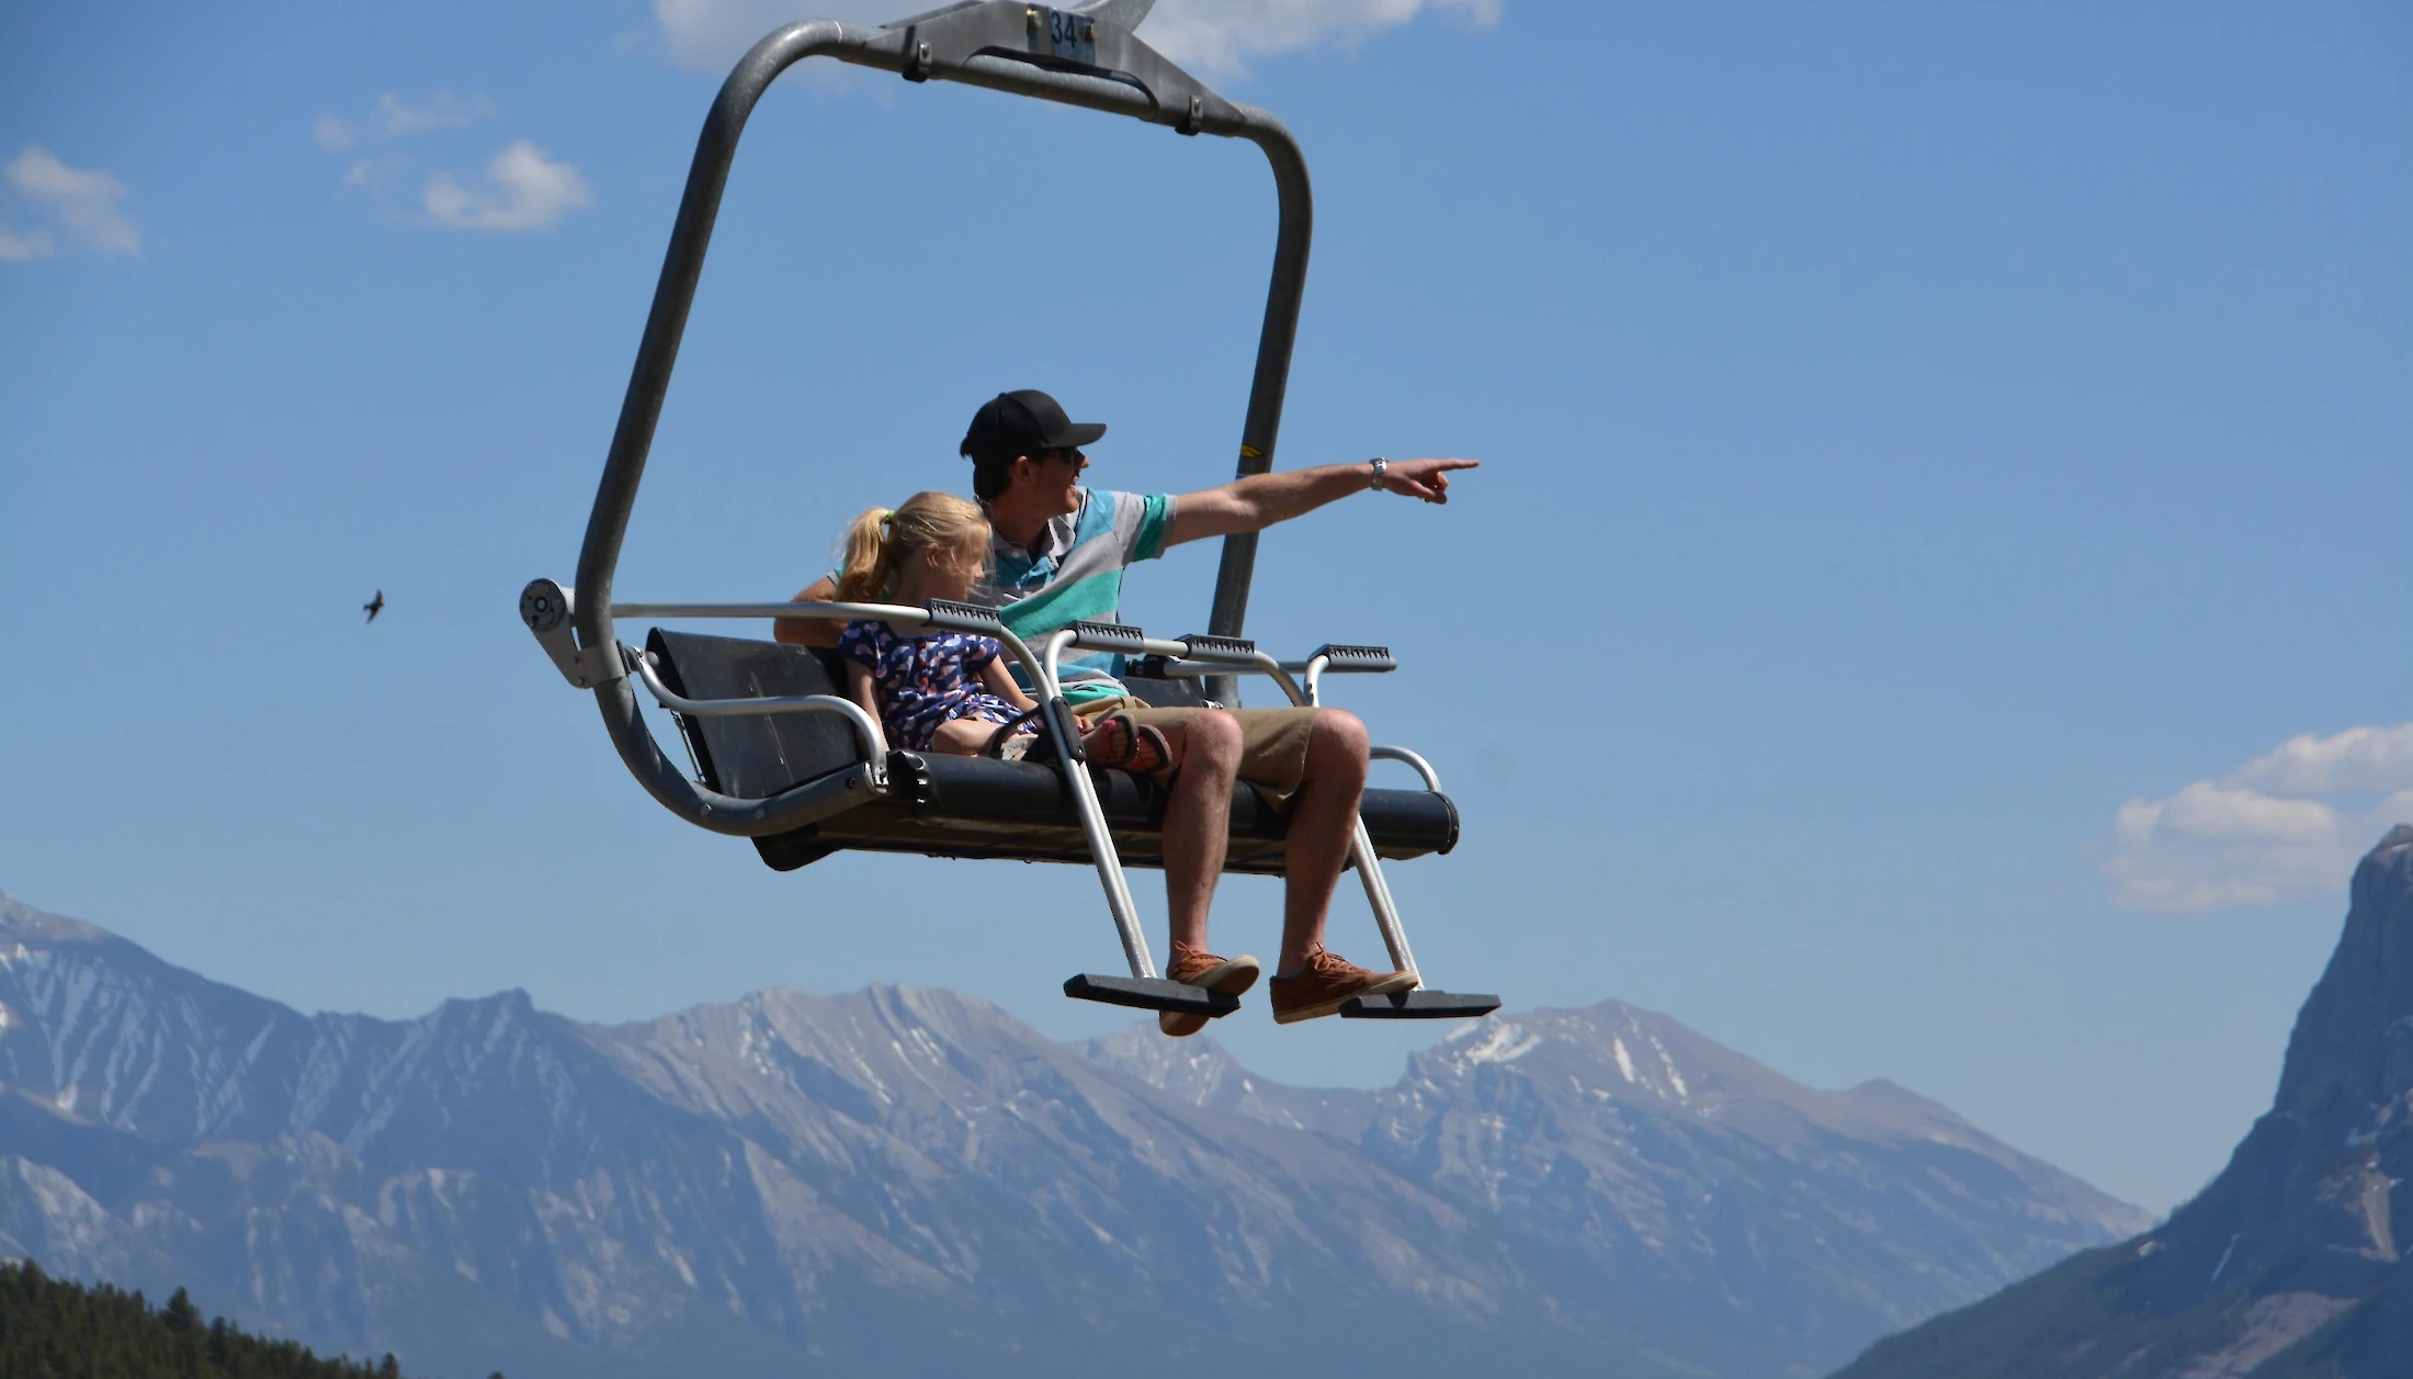
[[[7,1379],[401,1379],[376,1365],[319,1360],[299,1340],[203,1321],[176,1290],[152,1309],[140,1292],[55,1280],[34,1261],[0,1263],[0,1374]],[[502,1379],[495,1374],[492,1379]]]

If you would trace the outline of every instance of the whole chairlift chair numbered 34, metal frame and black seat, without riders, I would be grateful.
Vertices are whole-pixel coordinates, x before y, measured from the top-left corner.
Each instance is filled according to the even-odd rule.
[[[992,609],[929,601],[902,604],[615,604],[613,570],[644,478],[654,423],[688,307],[705,266],[738,135],[765,87],[789,65],[825,56],[898,72],[910,82],[948,80],[1170,126],[1182,135],[1245,138],[1274,169],[1281,222],[1274,278],[1257,338],[1257,370],[1240,427],[1240,473],[1272,469],[1274,432],[1289,386],[1298,297],[1305,285],[1310,196],[1308,169],[1291,133],[1255,106],[1226,101],[1132,36],[1153,0],[1088,0],[1076,7],[968,0],[898,19],[881,29],[808,19],[755,43],[721,82],[688,169],[654,307],[620,403],[620,425],[603,461],[603,483],[586,519],[577,582],[531,582],[521,621],[577,688],[603,710],[620,758],[671,814],[697,828],[750,838],[775,869],[794,869],[840,850],[919,853],[929,857],[1013,857],[1086,862],[1098,869],[1122,937],[1129,976],[1081,973],[1064,995],[1139,1009],[1221,1017],[1238,997],[1165,981],[1141,935],[1124,867],[1163,865],[1165,792],[1120,770],[1091,770],[1064,703],[1057,664],[1064,652],[1129,657],[1124,683],[1151,703],[1238,703],[1240,676],[1272,679],[1293,705],[1315,705],[1330,674],[1395,669],[1385,647],[1325,645],[1301,659],[1276,659],[1240,638],[1257,536],[1223,539],[1209,633],[1151,638],[1127,623],[1074,623],[1030,647]],[[878,751],[871,717],[849,698],[835,652],[652,628],[644,650],[620,642],[615,623],[690,618],[883,618],[898,630],[963,630],[997,638],[1030,679],[1054,763]],[[654,741],[635,683],[676,715],[695,778]],[[1395,968],[1416,971],[1380,862],[1448,853],[1457,845],[1457,809],[1433,768],[1414,751],[1375,746],[1421,775],[1421,790],[1366,790],[1351,867],[1373,906]],[[1231,802],[1226,869],[1279,874],[1286,819],[1250,790]],[[1361,997],[1351,1019],[1457,1019],[1498,1009],[1494,995],[1416,990]]]

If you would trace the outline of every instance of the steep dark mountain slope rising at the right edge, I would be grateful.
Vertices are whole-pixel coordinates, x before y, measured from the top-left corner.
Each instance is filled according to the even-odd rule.
[[[2413,1377],[2413,826],[2350,896],[2271,1111],[2203,1193],[1836,1379]]]

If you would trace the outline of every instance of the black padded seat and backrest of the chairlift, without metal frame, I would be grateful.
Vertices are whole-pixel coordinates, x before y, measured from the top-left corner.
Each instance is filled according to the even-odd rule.
[[[842,693],[837,654],[816,647],[654,628],[647,650],[661,662],[661,679],[688,698]],[[743,799],[765,799],[859,761],[854,734],[837,715],[680,715],[678,725],[705,785]],[[791,869],[837,850],[871,850],[1091,862],[1071,787],[1052,766],[900,751],[890,768],[910,790],[755,838],[763,860]],[[1165,790],[1122,770],[1096,770],[1091,780],[1122,865],[1163,867]],[[1457,845],[1457,809],[1438,792],[1366,790],[1359,814],[1385,860]],[[1286,814],[1255,790],[1233,790],[1226,872],[1279,874],[1286,831]]]

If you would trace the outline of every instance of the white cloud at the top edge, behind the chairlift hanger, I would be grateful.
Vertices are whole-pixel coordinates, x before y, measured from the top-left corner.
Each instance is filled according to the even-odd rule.
[[[823,0],[813,17],[886,24],[936,10],[934,0]],[[1453,12],[1472,24],[1498,19],[1501,0],[1158,0],[1139,36],[1209,77],[1240,75],[1248,58],[1325,41],[1354,43],[1416,14]],[[755,39],[799,17],[784,0],[654,0],[654,22],[680,68],[724,70]]]

